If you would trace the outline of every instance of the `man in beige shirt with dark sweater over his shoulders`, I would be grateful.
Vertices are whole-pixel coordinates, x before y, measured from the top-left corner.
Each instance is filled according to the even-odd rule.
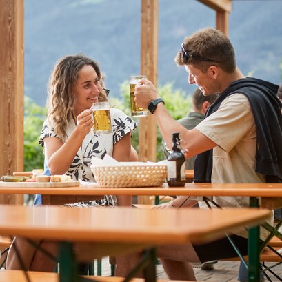
[[[281,103],[278,85],[246,78],[236,66],[232,44],[222,32],[205,28],[185,38],[175,58],[185,66],[188,81],[205,96],[219,93],[205,119],[192,130],[174,121],[156,88],[142,79],[135,101],[157,119],[168,146],[172,132],[180,132],[186,157],[197,154],[194,182],[264,183],[282,181]],[[174,206],[193,206],[197,199],[174,200]],[[248,197],[214,197],[221,207],[248,207]],[[205,208],[200,204],[201,208]],[[270,219],[273,223],[273,218]],[[262,239],[266,234],[261,232]],[[241,253],[248,253],[248,234],[231,235]],[[236,256],[228,239],[204,245],[165,246],[159,256],[170,279],[195,280],[188,262],[204,262]]]

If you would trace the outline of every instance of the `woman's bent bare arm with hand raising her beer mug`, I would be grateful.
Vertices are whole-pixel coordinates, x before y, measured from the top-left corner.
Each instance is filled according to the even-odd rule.
[[[77,117],[77,126],[66,143],[56,137],[44,138],[44,152],[51,174],[67,172],[92,125],[92,111],[85,110]]]

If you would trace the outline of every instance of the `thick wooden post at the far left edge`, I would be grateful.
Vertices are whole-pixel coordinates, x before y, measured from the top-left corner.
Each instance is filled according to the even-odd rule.
[[[23,170],[23,0],[0,0],[0,175]],[[0,195],[0,203],[23,203]]]

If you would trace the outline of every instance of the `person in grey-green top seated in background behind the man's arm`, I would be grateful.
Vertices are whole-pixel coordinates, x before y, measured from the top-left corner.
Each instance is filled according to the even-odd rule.
[[[188,130],[193,129],[196,125],[203,121],[203,118],[205,117],[205,112],[208,110],[208,107],[212,103],[214,103],[216,97],[217,94],[204,96],[201,90],[197,88],[192,95],[192,110],[190,110],[185,117],[177,121]],[[168,154],[170,154],[170,150],[168,150],[168,147],[165,145],[164,141],[162,142],[162,145],[163,154],[165,155],[165,159],[167,159]],[[194,170],[194,160],[195,157],[186,159],[186,170]]]

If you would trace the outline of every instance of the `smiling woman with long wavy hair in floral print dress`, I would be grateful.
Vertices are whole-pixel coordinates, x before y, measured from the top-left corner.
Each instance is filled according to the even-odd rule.
[[[110,154],[117,161],[133,161],[130,157],[130,137],[137,123],[121,110],[110,109],[112,133],[98,135],[91,130],[93,120],[90,107],[93,103],[108,101],[100,79],[101,72],[97,63],[83,54],[63,57],[54,67],[48,86],[48,117],[39,139],[51,174],[67,174],[74,180],[94,181],[90,169],[92,156],[103,159],[105,154]],[[131,197],[121,196],[116,199],[114,196],[105,196],[78,204],[114,206],[116,203],[129,206]],[[17,245],[21,252],[26,270],[54,270],[56,263],[25,240],[17,238],[13,245]],[[17,270],[22,265],[15,255],[13,245],[6,268]],[[56,242],[41,241],[40,245],[51,254],[57,254]],[[119,258],[117,272],[123,274],[119,272]]]

